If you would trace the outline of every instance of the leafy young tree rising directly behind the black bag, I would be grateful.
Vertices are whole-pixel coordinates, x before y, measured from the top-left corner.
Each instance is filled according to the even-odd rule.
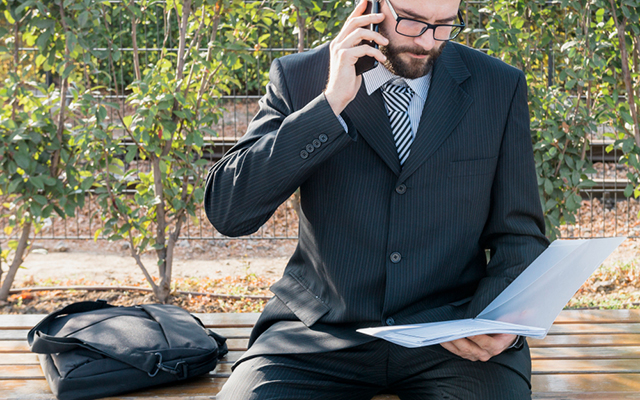
[[[239,58],[238,38],[221,42],[218,37],[223,9],[230,4],[167,2],[165,18],[179,26],[177,54],[163,51],[144,68],[134,63],[139,78],[128,86],[126,99],[133,112],[125,115],[108,105],[118,115],[114,121],[107,117],[107,106],[98,106],[92,128],[96,140],[86,143],[104,220],[96,237],[128,240],[132,257],[161,302],[171,296],[173,254],[182,227],[187,218],[197,219],[196,206],[203,201],[208,164],[202,157],[204,138],[216,135],[211,127],[221,113],[219,98],[234,80],[228,74]],[[146,5],[125,2],[133,19]],[[135,24],[132,33],[136,49]],[[223,46],[226,51],[214,51]],[[134,57],[139,57],[135,50]],[[117,136],[121,128],[125,134]],[[139,167],[132,168],[136,159]],[[149,250],[157,256],[157,279],[141,258]]]

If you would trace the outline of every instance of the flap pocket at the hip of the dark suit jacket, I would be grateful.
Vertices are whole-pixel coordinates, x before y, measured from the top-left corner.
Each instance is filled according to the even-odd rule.
[[[331,308],[316,296],[302,278],[288,272],[271,286],[278,297],[306,326],[315,324]]]

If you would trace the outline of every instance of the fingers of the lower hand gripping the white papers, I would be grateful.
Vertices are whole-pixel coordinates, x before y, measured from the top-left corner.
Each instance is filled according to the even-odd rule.
[[[506,350],[515,341],[515,335],[477,335],[441,343],[441,346],[471,361],[489,361]]]

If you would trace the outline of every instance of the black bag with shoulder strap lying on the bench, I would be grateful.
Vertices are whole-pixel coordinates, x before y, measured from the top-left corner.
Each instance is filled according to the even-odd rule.
[[[227,354],[224,337],[165,304],[74,303],[43,319],[28,340],[60,400],[113,396],[206,374]]]

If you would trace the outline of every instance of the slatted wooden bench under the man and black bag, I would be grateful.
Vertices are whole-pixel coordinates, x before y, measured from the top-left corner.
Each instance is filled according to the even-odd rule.
[[[42,315],[0,315],[0,399],[53,399],[27,331]],[[206,377],[118,399],[213,399],[246,350],[258,314],[198,314],[229,338]],[[535,399],[640,399],[640,310],[563,311],[544,340],[531,340]],[[375,400],[397,399],[376,396]]]

